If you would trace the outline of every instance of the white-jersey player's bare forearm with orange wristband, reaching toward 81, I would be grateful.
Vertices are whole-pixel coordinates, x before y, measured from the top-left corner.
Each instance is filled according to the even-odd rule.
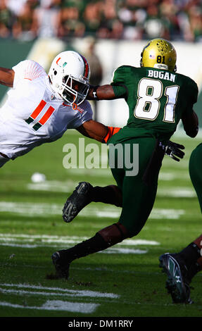
[[[98,142],[108,142],[116,132],[120,130],[120,127],[108,127],[95,120],[87,120],[80,127],[77,127],[79,131],[85,137],[96,139]]]

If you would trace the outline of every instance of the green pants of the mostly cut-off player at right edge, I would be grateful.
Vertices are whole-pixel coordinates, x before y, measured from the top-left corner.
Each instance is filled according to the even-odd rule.
[[[196,146],[189,158],[189,175],[194,185],[202,213],[202,144]]]

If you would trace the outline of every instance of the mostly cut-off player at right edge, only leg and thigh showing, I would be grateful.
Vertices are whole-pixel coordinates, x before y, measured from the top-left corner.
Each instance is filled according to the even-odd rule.
[[[189,175],[194,185],[202,213],[202,144],[196,146],[189,158]],[[166,287],[174,303],[188,303],[192,278],[202,270],[202,235],[179,253],[160,256],[160,267],[167,273]]]

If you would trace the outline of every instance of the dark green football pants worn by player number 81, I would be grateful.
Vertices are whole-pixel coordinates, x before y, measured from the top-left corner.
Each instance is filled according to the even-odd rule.
[[[139,147],[138,154],[134,144]],[[119,155],[119,152],[115,151],[115,166],[112,167],[111,163],[110,166],[113,177],[122,190],[122,213],[119,221],[126,227],[130,237],[133,237],[144,227],[153,208],[164,151],[154,137],[133,138],[120,145],[122,145],[123,153]],[[118,144],[109,145],[109,154],[111,146],[115,148]],[[120,158],[129,157],[130,163],[134,161],[138,163],[137,175],[132,175],[128,171],[125,162],[123,167],[120,167]]]

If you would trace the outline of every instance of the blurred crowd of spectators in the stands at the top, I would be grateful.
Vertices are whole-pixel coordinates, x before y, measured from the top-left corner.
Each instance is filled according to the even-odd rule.
[[[202,42],[202,0],[0,0],[0,38]]]

